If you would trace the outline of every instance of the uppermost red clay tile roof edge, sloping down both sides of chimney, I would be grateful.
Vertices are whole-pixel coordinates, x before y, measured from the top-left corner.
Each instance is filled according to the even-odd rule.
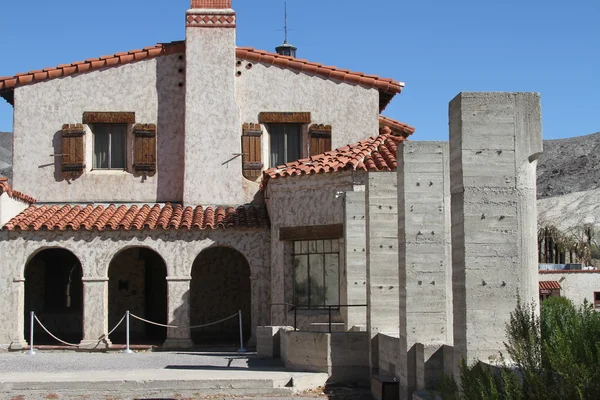
[[[19,86],[177,53],[185,53],[185,41],[159,43],[155,46],[145,47],[141,50],[115,53],[99,58],[89,58],[85,61],[78,61],[71,64],[62,64],[58,67],[20,73],[15,76],[0,77],[0,94],[12,104],[12,89]],[[392,97],[397,93],[400,93],[404,87],[404,83],[396,82],[393,79],[324,66],[303,59],[281,56],[277,53],[263,50],[255,50],[251,47],[238,47],[236,49],[236,56],[248,61],[276,65],[294,71],[315,74],[327,79],[335,79],[341,82],[376,88],[381,92],[381,110],[383,110],[383,108],[391,101]]]

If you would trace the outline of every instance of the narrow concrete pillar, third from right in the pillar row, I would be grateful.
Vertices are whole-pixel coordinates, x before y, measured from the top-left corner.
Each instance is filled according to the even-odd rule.
[[[379,333],[398,334],[406,353],[406,276],[398,275],[398,193],[395,172],[369,173],[367,199],[367,330],[371,339],[371,371],[378,373]],[[403,365],[404,364],[404,365]],[[406,390],[406,364],[396,368],[401,392]]]

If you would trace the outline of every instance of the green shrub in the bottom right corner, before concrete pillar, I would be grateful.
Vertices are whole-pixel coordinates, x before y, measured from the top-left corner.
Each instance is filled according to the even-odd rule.
[[[447,377],[445,400],[600,399],[600,313],[565,298],[534,303],[520,299],[506,327],[511,364],[460,365],[460,384]],[[502,354],[500,359],[503,361]]]

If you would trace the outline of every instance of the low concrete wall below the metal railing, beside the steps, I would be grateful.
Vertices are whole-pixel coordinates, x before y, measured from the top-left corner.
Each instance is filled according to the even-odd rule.
[[[325,372],[328,383],[369,383],[369,334],[280,330],[281,360],[295,371]]]

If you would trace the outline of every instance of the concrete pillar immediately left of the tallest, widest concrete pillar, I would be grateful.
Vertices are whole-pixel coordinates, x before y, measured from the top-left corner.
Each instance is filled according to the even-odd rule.
[[[407,141],[398,146],[397,158],[398,262],[400,274],[406,274],[407,348],[424,345],[430,368],[419,371],[426,376],[411,374],[432,387],[444,374],[438,350],[452,344],[448,143]]]

